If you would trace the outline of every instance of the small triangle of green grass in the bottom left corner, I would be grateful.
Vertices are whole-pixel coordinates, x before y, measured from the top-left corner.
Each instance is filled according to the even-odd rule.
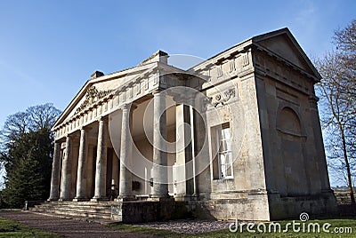
[[[0,217],[0,237],[62,237],[31,226],[25,226],[17,221]]]

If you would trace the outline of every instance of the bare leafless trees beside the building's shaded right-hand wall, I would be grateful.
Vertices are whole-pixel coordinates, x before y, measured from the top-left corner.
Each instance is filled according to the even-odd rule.
[[[320,82],[321,123],[326,132],[328,164],[339,178],[345,178],[352,203],[355,175],[356,136],[356,20],[335,32],[336,51],[316,61]]]

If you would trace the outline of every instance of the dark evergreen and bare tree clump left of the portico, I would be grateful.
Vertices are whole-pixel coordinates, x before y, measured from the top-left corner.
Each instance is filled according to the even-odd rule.
[[[50,130],[60,114],[53,104],[47,103],[7,117],[0,131],[0,190],[8,204],[24,198],[25,192],[32,194],[28,197],[44,197],[51,175]],[[28,187],[20,190],[25,181]]]

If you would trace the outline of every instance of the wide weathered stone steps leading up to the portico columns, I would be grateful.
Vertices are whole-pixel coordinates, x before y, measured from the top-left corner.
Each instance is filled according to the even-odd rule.
[[[42,214],[60,215],[69,218],[111,218],[109,202],[43,202],[29,208],[29,211]]]

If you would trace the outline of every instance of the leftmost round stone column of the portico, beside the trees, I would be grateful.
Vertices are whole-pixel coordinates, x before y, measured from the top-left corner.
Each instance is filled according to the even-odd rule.
[[[60,186],[60,168],[61,166],[61,143],[54,142],[53,163],[52,163],[52,178],[51,178],[51,193],[48,201],[58,200],[58,189]]]

